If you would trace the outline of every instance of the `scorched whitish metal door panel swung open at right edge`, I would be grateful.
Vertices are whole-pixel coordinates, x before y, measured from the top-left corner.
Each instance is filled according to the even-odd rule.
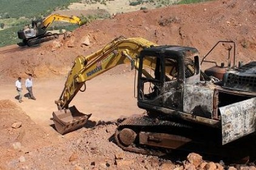
[[[256,98],[220,107],[223,145],[255,131]]]

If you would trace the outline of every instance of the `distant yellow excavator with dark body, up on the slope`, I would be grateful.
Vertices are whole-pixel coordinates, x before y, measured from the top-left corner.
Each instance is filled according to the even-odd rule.
[[[41,42],[50,41],[54,38],[58,38],[59,34],[52,34],[47,32],[47,28],[54,21],[70,22],[72,24],[81,25],[81,19],[77,16],[65,16],[59,14],[52,14],[47,16],[43,21],[36,21],[33,19],[32,27],[26,25],[22,30],[18,31],[18,38],[22,39],[22,42],[19,42],[19,46],[35,46],[39,45]]]

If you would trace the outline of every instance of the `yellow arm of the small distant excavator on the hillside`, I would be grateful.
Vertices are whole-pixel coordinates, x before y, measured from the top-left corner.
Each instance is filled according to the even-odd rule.
[[[39,27],[45,30],[50,26],[50,24],[52,24],[53,21],[63,21],[63,22],[70,22],[73,24],[81,25],[81,19],[79,19],[77,16],[65,16],[65,15],[59,15],[59,14],[52,14],[47,16],[47,18],[45,18],[44,21],[42,21]]]

